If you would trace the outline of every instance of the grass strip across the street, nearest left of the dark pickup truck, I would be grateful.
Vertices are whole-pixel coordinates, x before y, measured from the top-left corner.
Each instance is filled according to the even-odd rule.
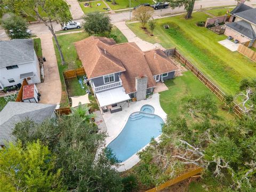
[[[105,1],[111,8],[111,10],[119,10],[129,8],[129,0],[116,0],[117,5],[113,5],[112,2]],[[142,3],[155,4],[152,0],[131,0],[131,7],[140,5]]]

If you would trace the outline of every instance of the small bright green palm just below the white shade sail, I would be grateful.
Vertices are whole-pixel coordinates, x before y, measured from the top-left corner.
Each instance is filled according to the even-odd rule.
[[[77,116],[81,117],[83,119],[83,121],[90,122],[91,118],[95,117],[94,114],[89,113],[90,108],[91,107],[88,107],[87,104],[82,106],[81,102],[79,102],[77,108],[71,107],[72,113],[70,115],[77,115]]]

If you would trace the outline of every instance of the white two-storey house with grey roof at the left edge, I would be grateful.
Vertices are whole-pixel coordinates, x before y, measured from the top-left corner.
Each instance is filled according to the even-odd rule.
[[[38,59],[33,39],[0,41],[0,90],[4,87],[41,83]]]

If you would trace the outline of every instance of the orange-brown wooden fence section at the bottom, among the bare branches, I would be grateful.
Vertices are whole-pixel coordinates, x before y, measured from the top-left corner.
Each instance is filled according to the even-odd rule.
[[[196,175],[198,173],[201,173],[202,171],[203,171],[202,167],[200,167],[198,169],[195,169],[193,171],[189,171],[189,172],[187,172],[185,174],[180,175],[179,177],[177,177],[175,179],[169,180],[169,181],[163,183],[162,185],[159,185],[159,186],[157,186],[157,187],[155,187],[153,189],[149,189],[149,190],[147,190],[145,192],[155,192],[155,191],[162,190],[162,189],[164,189],[166,187],[170,187],[170,186],[174,185],[175,183],[178,183],[178,182],[183,181],[185,179],[188,179],[188,178],[190,178],[190,177],[192,177],[192,176],[194,176],[194,175]]]

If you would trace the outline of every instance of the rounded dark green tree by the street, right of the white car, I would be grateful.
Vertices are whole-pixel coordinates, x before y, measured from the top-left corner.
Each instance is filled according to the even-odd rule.
[[[83,28],[84,30],[92,34],[102,34],[105,31],[110,32],[112,25],[110,23],[109,15],[100,12],[87,13],[84,16]]]

